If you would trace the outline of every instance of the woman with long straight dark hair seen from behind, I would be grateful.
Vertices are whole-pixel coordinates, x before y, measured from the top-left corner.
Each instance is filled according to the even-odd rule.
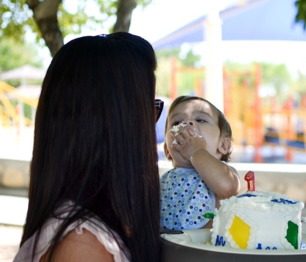
[[[123,32],[81,37],[56,54],[14,262],[159,261],[155,69],[152,46]]]

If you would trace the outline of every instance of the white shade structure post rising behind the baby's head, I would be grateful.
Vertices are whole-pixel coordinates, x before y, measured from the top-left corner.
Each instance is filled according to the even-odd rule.
[[[207,57],[204,86],[204,98],[214,104],[221,112],[223,102],[223,66],[221,54],[221,19],[218,1],[211,1],[207,19],[204,22],[204,39],[206,39]]]

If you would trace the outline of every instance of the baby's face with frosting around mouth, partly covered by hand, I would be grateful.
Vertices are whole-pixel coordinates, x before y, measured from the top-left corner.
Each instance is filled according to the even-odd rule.
[[[179,132],[181,129],[194,129],[197,135],[206,141],[206,150],[220,159],[218,146],[220,142],[220,130],[218,127],[217,113],[210,105],[202,100],[189,100],[178,104],[168,116],[168,126],[165,143],[173,162],[183,163],[189,159],[183,159],[180,152],[173,150],[171,144],[176,143],[170,130]],[[182,166],[182,165],[179,165]]]

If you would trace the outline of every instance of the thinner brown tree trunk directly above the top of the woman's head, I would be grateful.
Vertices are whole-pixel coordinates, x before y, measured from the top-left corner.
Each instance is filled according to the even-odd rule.
[[[114,26],[114,32],[128,32],[132,11],[136,7],[136,0],[118,0],[117,20]]]

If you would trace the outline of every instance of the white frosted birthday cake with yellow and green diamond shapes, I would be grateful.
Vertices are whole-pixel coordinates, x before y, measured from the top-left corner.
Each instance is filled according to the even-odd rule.
[[[211,244],[237,249],[300,249],[304,202],[272,192],[247,191],[220,201]]]

